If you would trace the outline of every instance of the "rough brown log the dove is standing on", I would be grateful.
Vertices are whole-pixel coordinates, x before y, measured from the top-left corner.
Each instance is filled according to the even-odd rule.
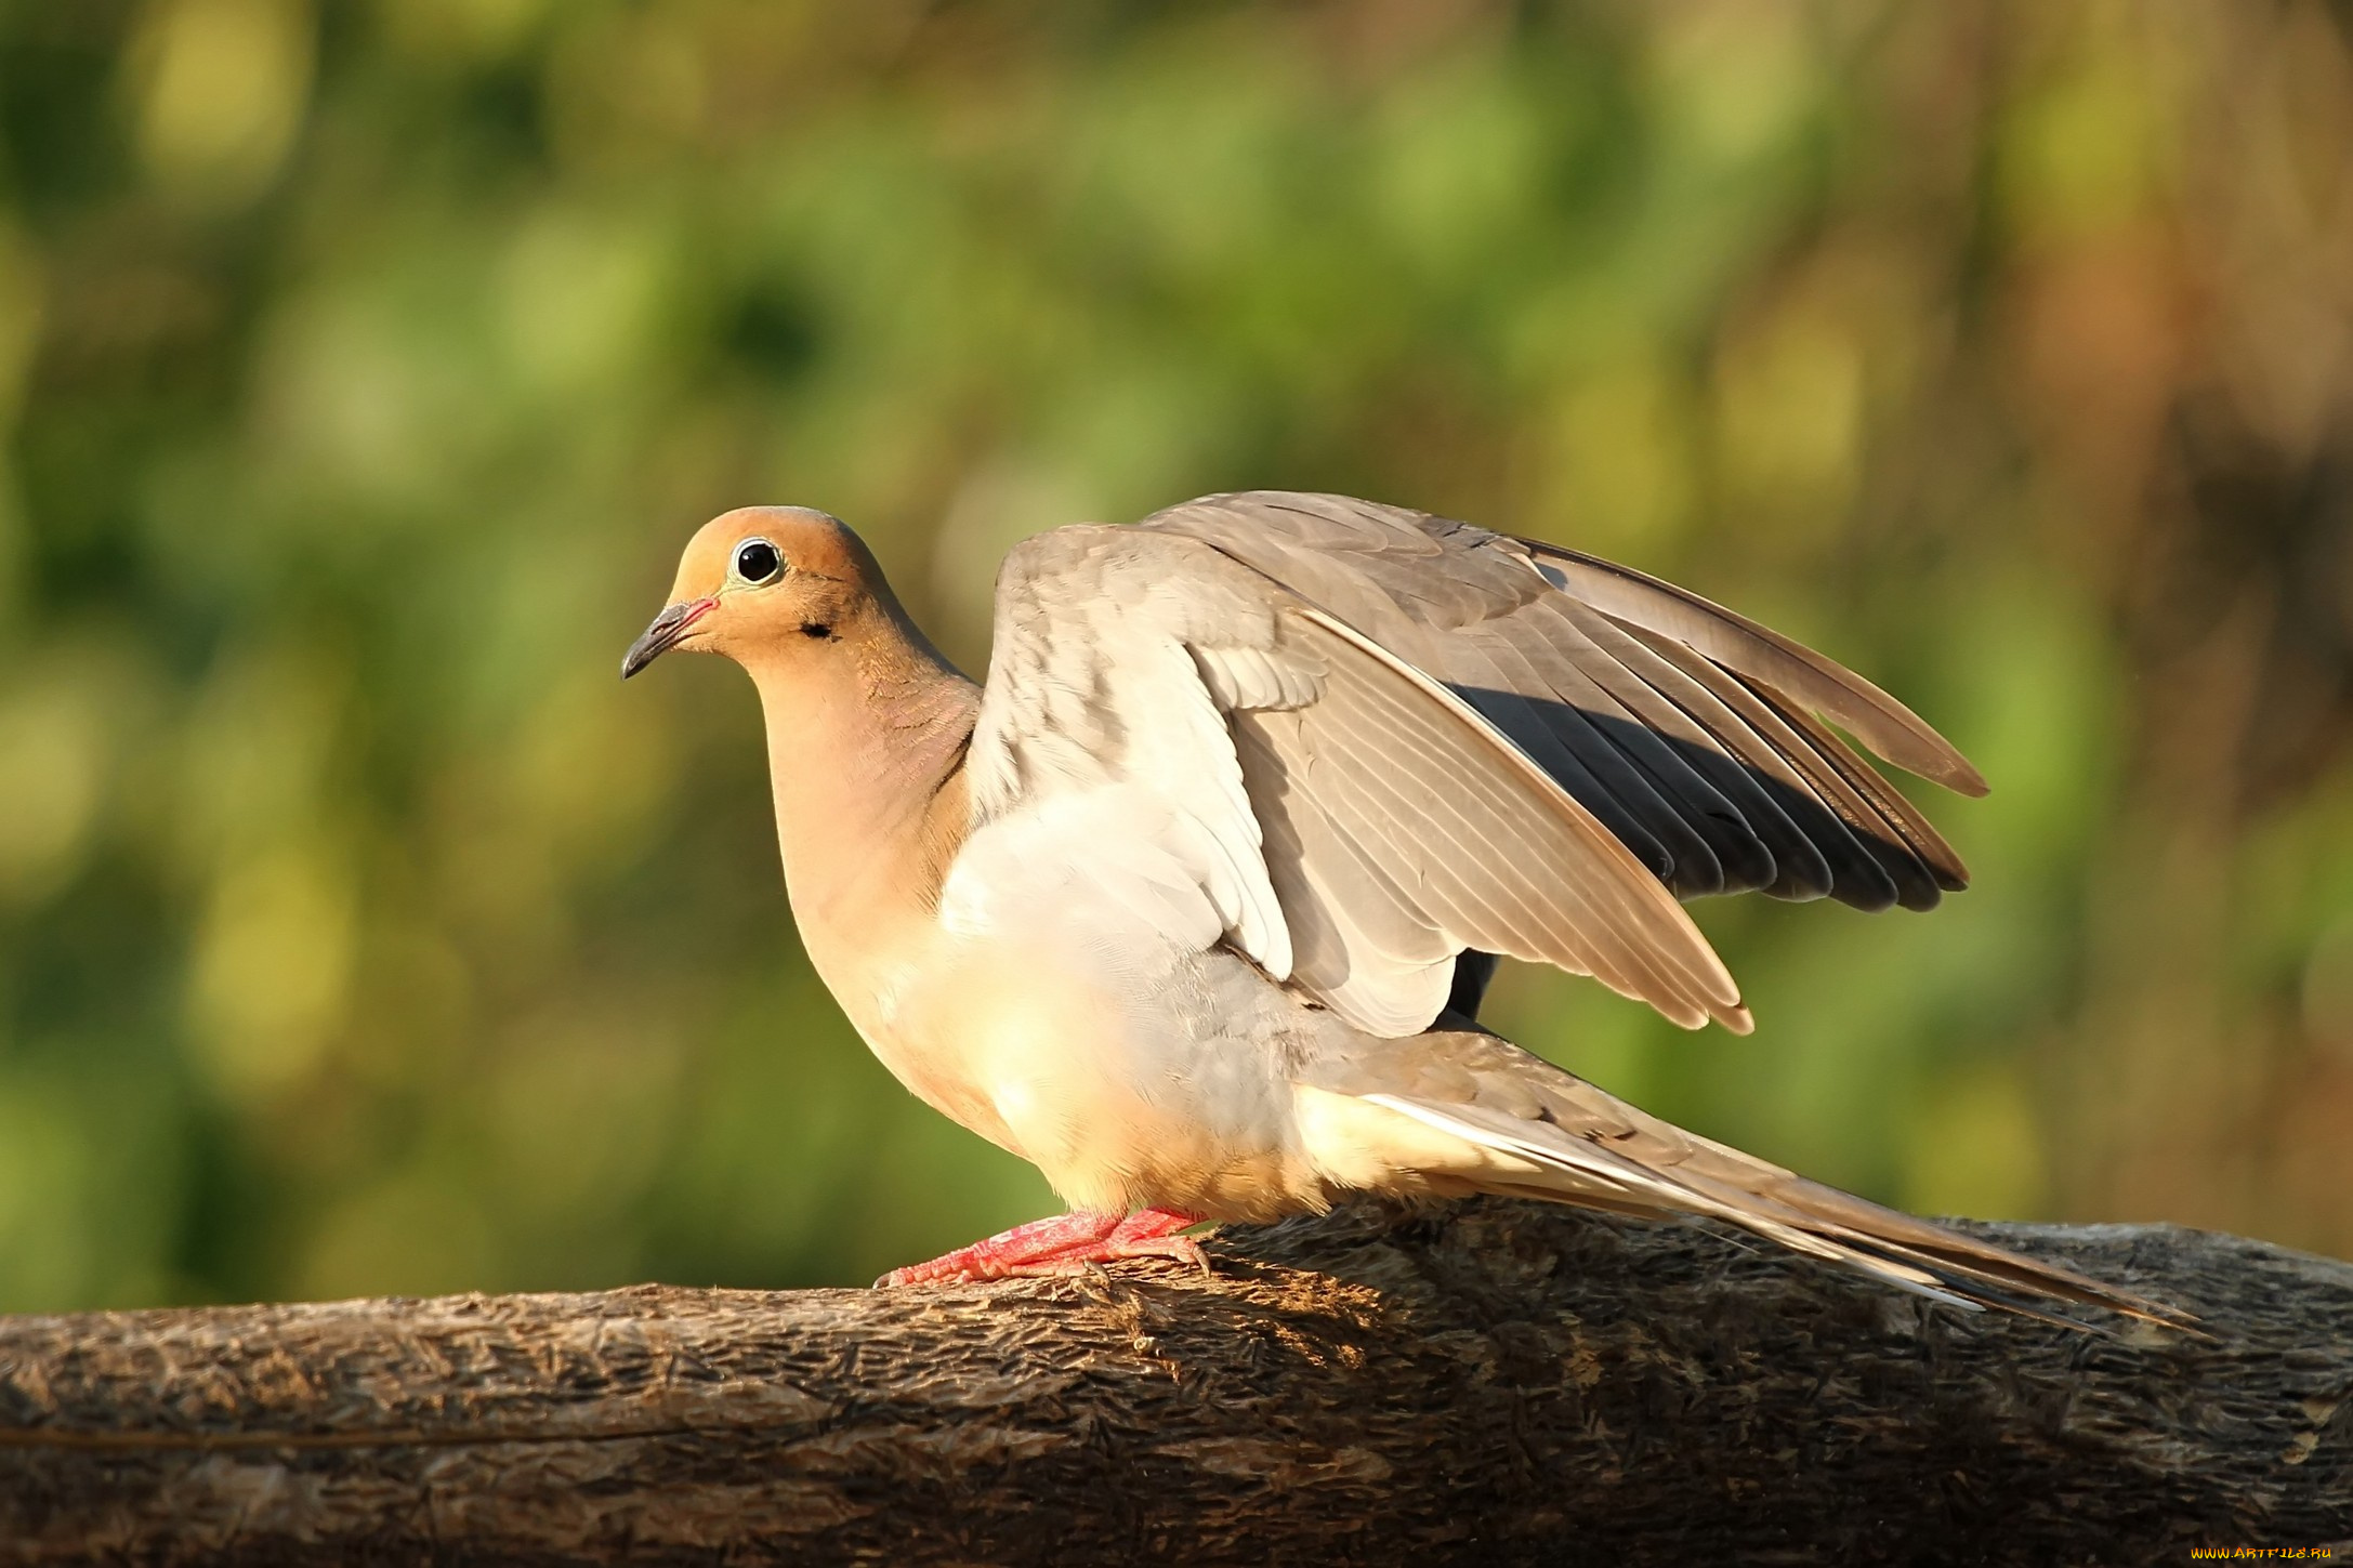
[[[1473,1201],[946,1291],[0,1319],[0,1563],[2167,1563],[2353,1542],[2353,1265],[1984,1225],[2214,1338]]]

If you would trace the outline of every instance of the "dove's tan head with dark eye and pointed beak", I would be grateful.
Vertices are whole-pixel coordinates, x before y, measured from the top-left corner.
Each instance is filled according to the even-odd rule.
[[[805,505],[746,505],[696,529],[671,602],[621,658],[628,679],[671,649],[736,663],[816,656],[896,604],[866,543]]]

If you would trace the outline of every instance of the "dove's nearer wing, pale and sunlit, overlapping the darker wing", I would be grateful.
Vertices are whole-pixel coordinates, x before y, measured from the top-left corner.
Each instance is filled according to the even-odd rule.
[[[1200,538],[1075,527],[1007,557],[967,778],[967,846],[1226,940],[1374,1034],[1428,1027],[1466,947],[1748,1025],[1668,886],[1485,705]]]

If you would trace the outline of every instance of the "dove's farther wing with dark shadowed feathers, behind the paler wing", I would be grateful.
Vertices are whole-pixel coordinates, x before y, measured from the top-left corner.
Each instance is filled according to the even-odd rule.
[[[1141,527],[1217,545],[1445,682],[1682,898],[1925,910],[1967,884],[1824,719],[1965,795],[1986,790],[1977,769],[1871,682],[1699,595],[1346,496],[1205,496]]]

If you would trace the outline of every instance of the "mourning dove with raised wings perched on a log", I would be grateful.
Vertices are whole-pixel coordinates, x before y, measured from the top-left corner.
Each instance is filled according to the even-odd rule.
[[[744,508],[628,649],[767,719],[816,973],[925,1103],[1071,1213],[882,1284],[1200,1260],[1202,1220],[1494,1192],[1725,1220],[1977,1307],[2177,1319],[1687,1133],[1475,1023],[1494,954],[1751,1027],[1682,910],[1965,884],[1828,722],[1965,795],[1908,708],[1680,588],[1344,496],[1205,496],[1016,545],[988,684],[856,534]]]

